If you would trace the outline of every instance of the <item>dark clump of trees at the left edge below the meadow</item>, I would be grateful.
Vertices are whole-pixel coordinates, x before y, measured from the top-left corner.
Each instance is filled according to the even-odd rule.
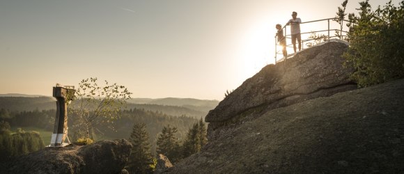
[[[45,148],[38,132],[10,131],[8,122],[0,121],[0,161],[6,161],[20,155],[27,155]]]

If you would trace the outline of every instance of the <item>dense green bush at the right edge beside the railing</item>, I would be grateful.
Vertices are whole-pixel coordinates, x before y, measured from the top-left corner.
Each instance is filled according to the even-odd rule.
[[[359,16],[350,14],[350,47],[343,54],[345,67],[359,87],[404,77],[404,1],[391,1],[372,11],[368,0],[360,4]]]

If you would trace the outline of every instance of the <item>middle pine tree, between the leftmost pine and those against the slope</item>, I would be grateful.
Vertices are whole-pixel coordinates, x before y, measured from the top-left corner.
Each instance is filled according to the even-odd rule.
[[[157,154],[165,155],[175,163],[181,159],[180,143],[176,137],[177,127],[163,127],[162,134],[157,139]]]

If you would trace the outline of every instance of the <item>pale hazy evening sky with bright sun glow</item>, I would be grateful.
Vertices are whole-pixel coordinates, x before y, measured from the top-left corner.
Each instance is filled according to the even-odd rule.
[[[274,63],[276,24],[293,11],[302,22],[335,17],[342,2],[0,0],[0,94],[52,96],[56,83],[98,77],[132,97],[223,100]]]

